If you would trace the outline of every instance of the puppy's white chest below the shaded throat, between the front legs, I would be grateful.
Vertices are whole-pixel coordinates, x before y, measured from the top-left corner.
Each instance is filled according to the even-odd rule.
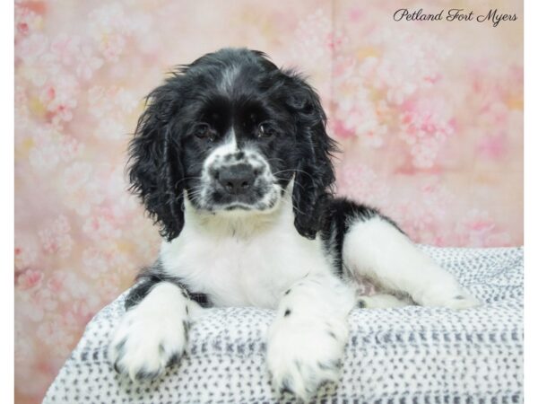
[[[295,229],[252,237],[184,231],[163,244],[165,270],[218,306],[274,308],[282,293],[308,272],[330,270],[319,241]]]

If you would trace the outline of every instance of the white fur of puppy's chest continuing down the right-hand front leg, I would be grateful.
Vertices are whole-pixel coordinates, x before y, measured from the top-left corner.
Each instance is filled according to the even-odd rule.
[[[278,308],[267,342],[277,391],[306,400],[320,382],[335,381],[355,297],[332,273],[321,242],[293,227],[289,194],[280,208],[255,217],[199,215],[188,202],[185,214],[181,235],[161,246],[167,273],[219,306]]]

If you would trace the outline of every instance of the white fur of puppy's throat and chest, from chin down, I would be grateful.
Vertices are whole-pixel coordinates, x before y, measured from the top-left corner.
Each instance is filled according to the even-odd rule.
[[[331,270],[320,240],[297,233],[290,198],[263,215],[199,215],[188,203],[185,214],[179,237],[162,243],[161,262],[218,306],[275,308],[301,277]]]

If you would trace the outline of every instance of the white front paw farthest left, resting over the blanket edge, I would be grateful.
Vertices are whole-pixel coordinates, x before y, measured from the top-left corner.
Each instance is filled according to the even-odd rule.
[[[183,355],[188,326],[177,313],[163,317],[135,307],[126,312],[108,346],[109,361],[133,381],[154,379]]]

